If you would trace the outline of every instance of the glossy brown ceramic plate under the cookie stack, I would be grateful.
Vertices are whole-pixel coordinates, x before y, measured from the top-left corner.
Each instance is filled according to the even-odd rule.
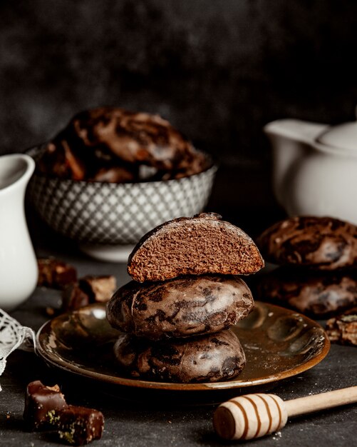
[[[319,363],[330,343],[321,326],[306,316],[256,301],[255,310],[233,330],[247,356],[243,372],[216,383],[143,381],[120,372],[112,348],[118,331],[105,319],[105,307],[93,304],[45,323],[36,351],[46,363],[104,383],[171,391],[205,391],[261,386],[295,376]]]

